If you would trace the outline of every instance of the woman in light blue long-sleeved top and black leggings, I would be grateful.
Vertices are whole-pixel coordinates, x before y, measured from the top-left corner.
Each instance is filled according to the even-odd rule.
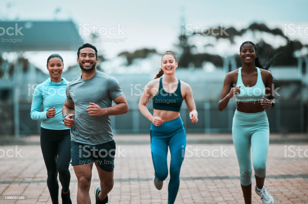
[[[69,185],[71,174],[68,170],[71,161],[70,129],[64,126],[62,107],[66,99],[68,82],[61,78],[63,59],[59,54],[52,54],[47,59],[50,78],[36,86],[30,116],[41,120],[41,149],[47,168],[47,186],[53,204],[58,204],[59,179],[62,185],[62,203],[71,204]],[[43,105],[43,112],[40,108]]]

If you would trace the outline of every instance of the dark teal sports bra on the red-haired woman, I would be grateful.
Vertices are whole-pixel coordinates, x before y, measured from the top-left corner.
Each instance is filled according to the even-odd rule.
[[[180,108],[183,102],[181,94],[181,83],[173,93],[167,93],[163,88],[163,78],[160,78],[158,93],[153,97],[153,109],[157,110],[171,110],[180,112]]]

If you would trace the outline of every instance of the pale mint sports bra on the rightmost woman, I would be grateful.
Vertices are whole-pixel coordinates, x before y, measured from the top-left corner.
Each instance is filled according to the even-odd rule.
[[[236,86],[240,87],[240,94],[235,95],[237,102],[256,102],[263,100],[262,97],[265,95],[265,85],[262,81],[261,71],[259,67],[257,68],[258,76],[257,83],[254,86],[244,86],[242,80],[241,67],[238,69],[237,83]]]

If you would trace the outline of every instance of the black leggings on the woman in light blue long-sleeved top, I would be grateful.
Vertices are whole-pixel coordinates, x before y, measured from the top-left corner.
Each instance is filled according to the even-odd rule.
[[[51,201],[58,204],[58,172],[63,192],[68,191],[71,180],[68,170],[71,161],[70,130],[50,130],[41,127],[41,149],[47,168],[47,186]]]

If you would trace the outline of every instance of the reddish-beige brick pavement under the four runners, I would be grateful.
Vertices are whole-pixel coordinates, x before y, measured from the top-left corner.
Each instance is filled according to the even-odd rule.
[[[188,135],[189,137],[189,135]],[[115,136],[115,140],[116,140]],[[143,138],[144,139],[144,138]],[[124,144],[119,142],[118,150],[124,151],[125,157],[116,158],[115,185],[109,196],[109,203],[121,204],[154,204],[167,203],[168,179],[164,182],[162,190],[156,190],[152,183],[154,168],[151,160],[149,144]],[[275,203],[308,203],[308,158],[300,158],[296,154],[294,158],[285,158],[285,144],[270,144],[267,159],[267,176],[265,186],[275,198]],[[308,149],[307,143],[292,143],[295,148]],[[232,144],[192,144],[188,143],[186,158],[181,168],[180,189],[176,203],[243,203],[239,182],[239,168],[235,150]],[[200,150],[229,149],[229,156],[214,158],[197,157],[190,152],[198,147]],[[15,149],[14,145],[0,146],[2,150]],[[42,152],[38,145],[18,145],[24,158],[0,158],[0,195],[26,195],[27,200],[0,201],[0,203],[51,203],[46,179],[47,171],[44,165]],[[294,148],[293,148],[294,150]],[[199,151],[199,155],[200,155]],[[0,154],[2,154],[0,152]],[[10,153],[11,154],[11,153]],[[215,153],[216,155],[217,153]],[[292,154],[287,152],[287,154]],[[301,152],[301,155],[303,152]],[[308,154],[308,152],[306,152]],[[168,155],[168,162],[170,161]],[[22,164],[5,164],[5,162],[17,162]],[[287,163],[290,161],[290,165]],[[120,164],[122,162],[122,164]],[[293,162],[298,162],[294,164]],[[306,162],[306,164],[305,164]],[[72,166],[71,171],[71,198],[76,203],[77,180]],[[99,184],[96,168],[93,167],[90,189],[91,201],[94,203],[93,190]],[[253,186],[255,181],[253,179]],[[60,189],[61,184],[59,183]],[[59,190],[60,192],[60,190]],[[59,194],[60,195],[60,194]],[[253,203],[261,203],[260,198],[252,192]],[[60,203],[61,203],[61,196]]]

